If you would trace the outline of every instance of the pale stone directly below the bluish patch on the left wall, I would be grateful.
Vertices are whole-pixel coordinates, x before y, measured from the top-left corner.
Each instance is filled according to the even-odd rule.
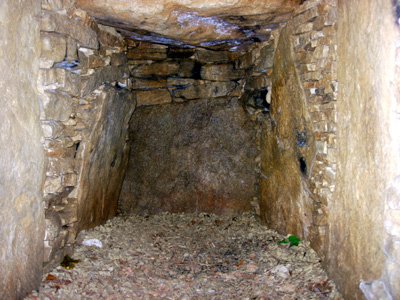
[[[81,89],[81,77],[63,68],[40,70],[38,83],[45,89],[58,89],[72,96],[78,96]]]

